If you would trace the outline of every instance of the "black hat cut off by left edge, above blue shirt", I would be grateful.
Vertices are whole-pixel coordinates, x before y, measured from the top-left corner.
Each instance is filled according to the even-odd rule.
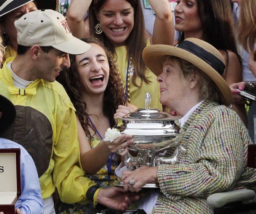
[[[0,95],[0,112],[2,116],[0,117],[0,133],[7,129],[13,123],[16,117],[16,109],[12,102]]]

